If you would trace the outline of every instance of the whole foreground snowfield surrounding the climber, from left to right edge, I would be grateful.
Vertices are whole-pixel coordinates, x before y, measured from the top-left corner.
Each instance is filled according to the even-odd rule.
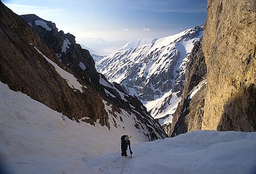
[[[77,123],[3,83],[0,117],[4,174],[121,173],[123,166],[123,173],[142,174],[256,171],[256,133],[195,131],[145,143],[133,128],[109,131],[99,124]],[[133,135],[133,158],[125,164],[122,134]]]

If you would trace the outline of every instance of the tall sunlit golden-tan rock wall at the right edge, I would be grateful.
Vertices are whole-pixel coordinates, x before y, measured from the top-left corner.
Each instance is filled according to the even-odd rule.
[[[202,129],[256,131],[256,1],[208,0]]]

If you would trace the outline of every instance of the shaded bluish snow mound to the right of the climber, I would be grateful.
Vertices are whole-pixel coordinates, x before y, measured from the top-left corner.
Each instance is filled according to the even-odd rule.
[[[124,173],[255,173],[255,152],[256,133],[194,131],[136,145]]]

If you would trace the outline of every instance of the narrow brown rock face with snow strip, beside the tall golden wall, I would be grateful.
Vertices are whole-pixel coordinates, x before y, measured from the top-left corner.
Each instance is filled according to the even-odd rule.
[[[181,102],[174,113],[173,123],[167,132],[170,137],[188,131],[201,130],[207,84],[206,74],[206,63],[200,40],[194,44],[189,57]]]

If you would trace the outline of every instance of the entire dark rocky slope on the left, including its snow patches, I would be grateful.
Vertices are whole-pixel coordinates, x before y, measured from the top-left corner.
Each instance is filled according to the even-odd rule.
[[[78,122],[120,131],[134,127],[148,140],[166,136],[136,97],[96,72],[75,36],[35,15],[29,18],[34,22],[0,3],[1,82]]]

